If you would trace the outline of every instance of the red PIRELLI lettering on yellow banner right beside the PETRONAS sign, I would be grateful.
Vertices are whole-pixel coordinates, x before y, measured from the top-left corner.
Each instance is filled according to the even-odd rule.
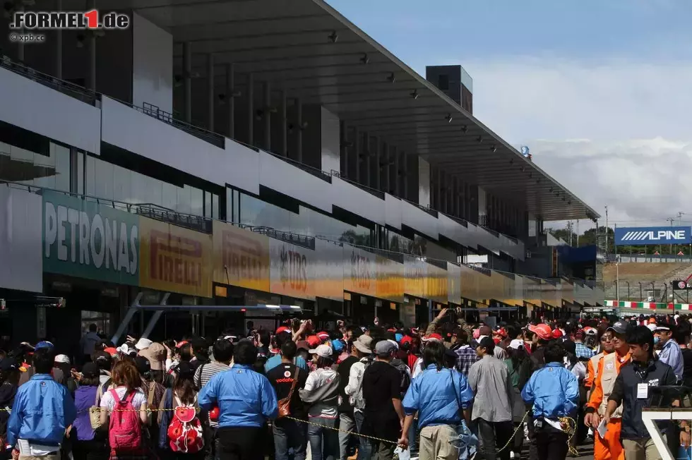
[[[191,238],[152,230],[150,277],[162,282],[202,285],[202,243]]]

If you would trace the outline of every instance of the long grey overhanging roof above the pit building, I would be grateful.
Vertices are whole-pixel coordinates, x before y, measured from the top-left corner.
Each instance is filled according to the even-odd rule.
[[[237,85],[253,73],[545,220],[600,217],[322,0],[99,1],[102,9],[128,6],[177,44],[191,42],[193,72],[205,73],[213,53],[220,85],[234,63]],[[174,47],[174,63],[181,56]]]

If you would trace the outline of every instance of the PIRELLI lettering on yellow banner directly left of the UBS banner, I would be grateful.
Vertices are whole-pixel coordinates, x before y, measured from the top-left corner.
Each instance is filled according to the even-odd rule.
[[[232,231],[222,231],[222,259],[231,279],[266,279],[264,249],[258,241]]]

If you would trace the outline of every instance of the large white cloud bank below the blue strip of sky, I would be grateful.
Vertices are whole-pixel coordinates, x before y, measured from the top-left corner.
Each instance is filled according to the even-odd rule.
[[[474,114],[619,225],[692,222],[692,64],[525,58],[463,63]]]

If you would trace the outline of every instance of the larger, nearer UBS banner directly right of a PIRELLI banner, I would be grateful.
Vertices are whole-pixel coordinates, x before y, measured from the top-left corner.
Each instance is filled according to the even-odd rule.
[[[315,251],[269,239],[270,292],[315,300]]]

